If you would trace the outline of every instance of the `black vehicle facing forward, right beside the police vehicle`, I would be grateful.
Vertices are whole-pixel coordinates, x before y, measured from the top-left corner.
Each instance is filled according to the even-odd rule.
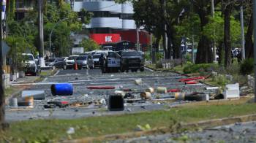
[[[136,50],[121,50],[119,51],[121,55],[120,70],[124,71],[144,71],[144,58],[142,53]]]

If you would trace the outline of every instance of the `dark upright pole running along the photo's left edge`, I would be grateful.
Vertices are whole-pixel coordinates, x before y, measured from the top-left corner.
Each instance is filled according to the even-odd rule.
[[[0,1],[0,9],[2,12],[2,5],[3,1]],[[4,128],[4,122],[5,122],[5,111],[4,111],[4,103],[5,103],[5,98],[4,98],[4,84],[3,84],[3,74],[4,74],[4,68],[3,68],[3,45],[2,43],[2,38],[3,38],[3,21],[1,19],[1,14],[0,14],[0,130]]]

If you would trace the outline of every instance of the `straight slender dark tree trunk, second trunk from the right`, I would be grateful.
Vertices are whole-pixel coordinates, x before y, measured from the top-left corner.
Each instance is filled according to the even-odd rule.
[[[231,65],[231,41],[230,41],[230,14],[233,4],[228,4],[224,10],[224,45],[225,45],[225,67]]]

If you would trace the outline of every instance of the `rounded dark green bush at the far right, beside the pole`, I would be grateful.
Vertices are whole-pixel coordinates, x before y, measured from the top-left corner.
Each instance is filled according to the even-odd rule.
[[[245,59],[240,65],[240,73],[243,75],[251,74],[253,71],[253,58]]]

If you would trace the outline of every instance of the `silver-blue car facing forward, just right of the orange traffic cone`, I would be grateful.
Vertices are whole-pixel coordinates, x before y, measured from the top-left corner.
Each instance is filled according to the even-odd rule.
[[[78,64],[78,69],[94,69],[94,60],[91,55],[80,55],[75,59],[75,63]]]

